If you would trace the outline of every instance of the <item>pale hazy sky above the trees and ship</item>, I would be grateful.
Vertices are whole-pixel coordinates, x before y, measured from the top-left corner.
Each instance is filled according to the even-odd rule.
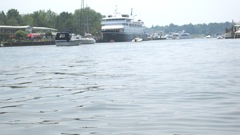
[[[17,9],[20,14],[48,10],[73,13],[81,7],[81,0],[0,0],[0,11]],[[141,19],[147,27],[152,25],[199,24],[210,22],[240,22],[240,0],[85,0],[85,5],[103,14],[118,11]]]

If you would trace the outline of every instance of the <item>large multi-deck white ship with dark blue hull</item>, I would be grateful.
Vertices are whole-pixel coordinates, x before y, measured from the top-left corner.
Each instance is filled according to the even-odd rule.
[[[134,20],[134,17],[128,14],[109,15],[102,19],[102,36],[103,42],[125,42],[132,41],[134,38],[147,39],[145,33],[146,27],[141,20]]]

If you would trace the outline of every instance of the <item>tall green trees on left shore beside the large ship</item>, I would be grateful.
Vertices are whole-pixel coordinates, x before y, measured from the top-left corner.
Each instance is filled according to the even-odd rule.
[[[30,25],[55,28],[58,31],[70,31],[81,35],[87,32],[99,35],[101,33],[102,17],[100,13],[89,7],[76,9],[74,13],[61,12],[60,14],[51,10],[20,14],[17,9],[10,9],[6,13],[4,11],[0,12],[0,25]]]

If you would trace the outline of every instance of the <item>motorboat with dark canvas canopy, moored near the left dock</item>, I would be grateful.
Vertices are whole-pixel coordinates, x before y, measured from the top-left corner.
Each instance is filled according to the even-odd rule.
[[[68,32],[58,32],[55,37],[56,46],[77,46],[81,42],[79,39],[73,39]]]

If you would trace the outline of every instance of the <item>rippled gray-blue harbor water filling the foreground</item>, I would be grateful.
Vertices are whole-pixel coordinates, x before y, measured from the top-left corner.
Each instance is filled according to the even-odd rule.
[[[0,48],[2,135],[239,135],[240,40]]]

